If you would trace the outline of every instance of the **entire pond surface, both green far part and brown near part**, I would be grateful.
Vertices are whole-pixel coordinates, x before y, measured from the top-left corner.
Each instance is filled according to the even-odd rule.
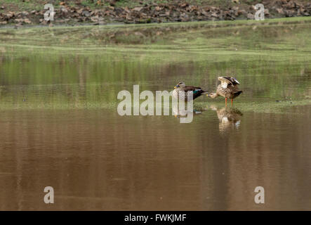
[[[1,30],[1,210],[310,210],[308,21]],[[133,84],[213,90],[224,73],[234,107],[117,114]]]

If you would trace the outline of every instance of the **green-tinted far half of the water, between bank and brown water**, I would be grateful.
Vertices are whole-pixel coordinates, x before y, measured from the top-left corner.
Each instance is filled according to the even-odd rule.
[[[243,110],[310,104],[310,18],[269,21],[0,30],[0,107],[110,108],[133,84],[212,91],[231,74]]]

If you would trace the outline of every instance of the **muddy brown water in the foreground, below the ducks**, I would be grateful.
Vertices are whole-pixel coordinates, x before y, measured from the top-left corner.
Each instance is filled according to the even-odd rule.
[[[1,113],[1,210],[310,209],[310,109],[244,113],[239,124],[215,111],[190,124],[107,110]]]

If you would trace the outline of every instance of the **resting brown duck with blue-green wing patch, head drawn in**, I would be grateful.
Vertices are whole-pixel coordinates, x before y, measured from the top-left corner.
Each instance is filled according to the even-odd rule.
[[[187,91],[192,91],[193,94],[192,100],[208,93],[208,91],[204,91],[203,89],[201,89],[201,87],[186,86],[184,82],[179,82],[178,84],[176,84],[176,86],[174,86],[173,97],[177,99],[184,99],[185,101],[187,101],[188,97]]]

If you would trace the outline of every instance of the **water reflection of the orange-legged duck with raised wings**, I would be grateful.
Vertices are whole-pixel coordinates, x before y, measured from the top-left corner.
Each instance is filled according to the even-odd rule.
[[[241,117],[243,113],[237,108],[220,108],[211,105],[211,110],[216,111],[219,119],[219,131],[228,131],[230,129],[239,129],[239,124],[241,122]]]

